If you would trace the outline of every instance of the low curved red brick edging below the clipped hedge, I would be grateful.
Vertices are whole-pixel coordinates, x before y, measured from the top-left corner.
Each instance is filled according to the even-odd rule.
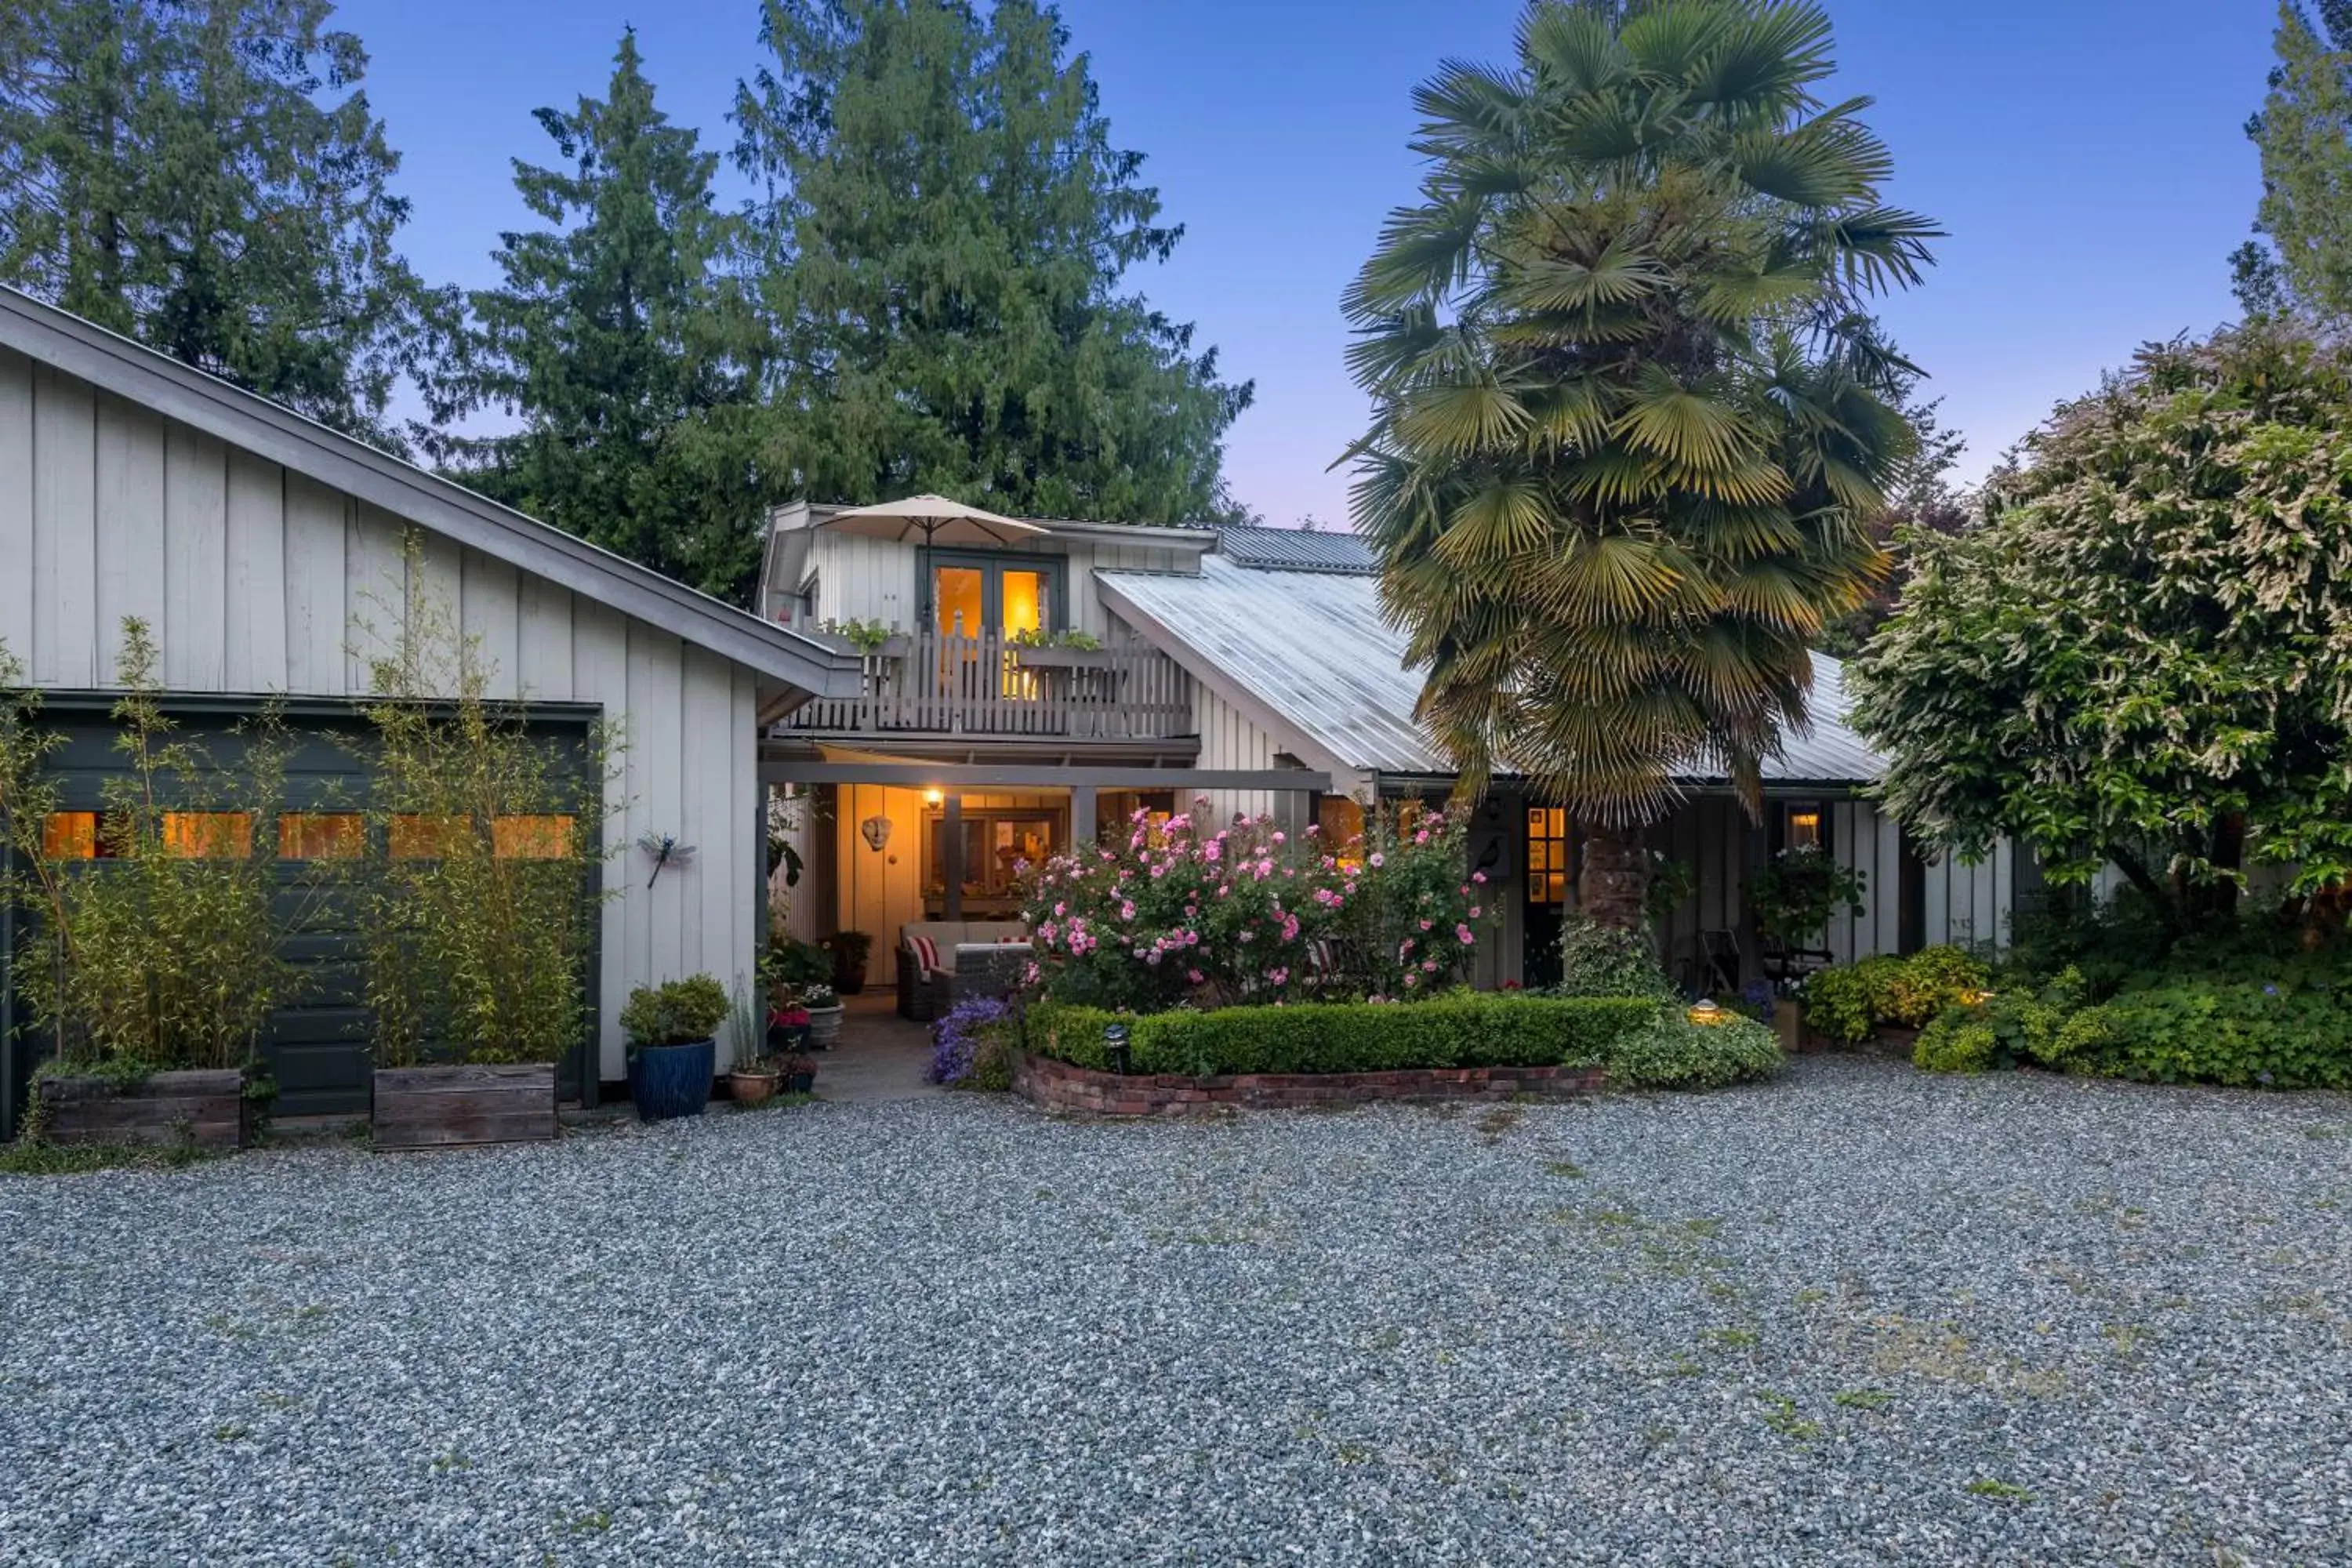
[[[1597,1093],[1604,1067],[1404,1067],[1395,1072],[1096,1072],[1051,1056],[1014,1056],[1014,1093],[1044,1110],[1087,1117],[1190,1117],[1235,1105],[1364,1105],[1371,1100],[1573,1100]]]

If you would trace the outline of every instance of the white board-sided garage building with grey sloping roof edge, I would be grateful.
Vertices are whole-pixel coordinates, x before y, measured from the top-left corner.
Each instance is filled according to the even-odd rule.
[[[623,1074],[616,1013],[633,985],[748,966],[764,933],[757,736],[809,698],[854,696],[856,656],[0,289],[0,642],[49,719],[87,731],[68,752],[80,804],[96,806],[120,766],[103,710],[125,616],[155,628],[172,710],[193,731],[219,733],[282,693],[299,729],[332,741],[367,689],[355,623],[397,618],[412,595],[461,607],[492,696],[527,701],[548,733],[595,719],[623,733],[595,1037],[572,1070],[593,1095]],[[289,780],[296,799],[365,785],[348,778],[362,766],[350,748],[322,743],[310,759]],[[647,832],[701,853],[647,886],[628,849]],[[301,957],[315,983],[263,1041],[280,1112],[365,1112],[348,950],[313,933]],[[0,1135],[40,1051],[9,997],[0,971]]]

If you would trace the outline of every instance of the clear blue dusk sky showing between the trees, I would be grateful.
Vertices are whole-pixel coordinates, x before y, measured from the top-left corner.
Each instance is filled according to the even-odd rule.
[[[1338,294],[1381,216],[1414,197],[1409,94],[1444,56],[1503,61],[1515,0],[1068,0],[1117,146],[1150,155],[1174,261],[1129,284],[1216,343],[1258,397],[1228,477],[1272,524],[1348,515],[1329,463],[1364,425],[1341,364]],[[1952,237],[1924,289],[1886,303],[1896,339],[1966,433],[1973,477],[2049,407],[2147,339],[2232,313],[2227,254],[2260,193],[2246,115],[2270,68],[2272,0],[1830,0],[1839,92],[1879,103],[1891,200]],[[508,160],[546,162],[541,103],[602,92],[621,26],[673,120],[731,146],[757,63],[750,0],[350,0],[367,89],[416,202],[405,249],[435,282],[496,280],[527,219]],[[731,193],[731,186],[729,186]]]

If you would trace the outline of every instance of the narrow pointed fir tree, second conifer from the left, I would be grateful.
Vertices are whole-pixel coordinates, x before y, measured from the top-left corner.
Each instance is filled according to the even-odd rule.
[[[550,228],[501,235],[506,284],[430,378],[437,418],[520,416],[442,437],[468,484],[720,597],[760,564],[764,494],[750,407],[755,334],[724,270],[741,221],[710,190],[717,155],[654,106],[623,33],[602,99],[541,108],[562,167],[515,160]]]

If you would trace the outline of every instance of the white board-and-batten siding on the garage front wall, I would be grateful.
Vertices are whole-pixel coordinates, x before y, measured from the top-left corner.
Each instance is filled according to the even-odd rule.
[[[482,639],[494,696],[595,703],[621,733],[597,994],[600,1072],[621,1077],[633,985],[748,980],[753,672],[433,534],[412,581],[388,512],[0,350],[0,644],[35,686],[111,686],[139,616],[172,691],[365,696],[412,595]],[[699,853],[647,889],[644,832]]]

